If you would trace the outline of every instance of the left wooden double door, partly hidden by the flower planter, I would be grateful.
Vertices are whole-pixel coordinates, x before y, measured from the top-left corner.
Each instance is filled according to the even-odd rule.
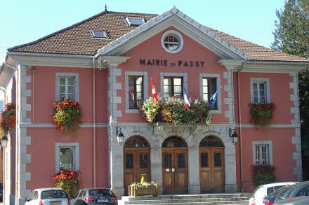
[[[128,195],[131,183],[140,183],[144,176],[150,182],[150,148],[124,149],[124,195]]]

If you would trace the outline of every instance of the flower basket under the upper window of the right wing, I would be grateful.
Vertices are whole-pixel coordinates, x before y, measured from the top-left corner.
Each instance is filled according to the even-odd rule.
[[[256,127],[266,127],[272,121],[275,104],[250,104],[251,122]]]

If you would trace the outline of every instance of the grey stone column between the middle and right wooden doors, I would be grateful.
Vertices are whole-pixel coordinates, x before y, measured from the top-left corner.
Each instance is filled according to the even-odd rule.
[[[199,194],[199,146],[188,147],[188,192],[189,194]]]

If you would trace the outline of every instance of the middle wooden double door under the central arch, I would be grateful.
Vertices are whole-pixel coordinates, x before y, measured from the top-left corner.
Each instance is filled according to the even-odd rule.
[[[163,194],[188,194],[187,148],[162,148]]]

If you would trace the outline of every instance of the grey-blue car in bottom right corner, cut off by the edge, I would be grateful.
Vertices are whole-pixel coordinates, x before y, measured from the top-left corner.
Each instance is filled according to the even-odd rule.
[[[287,186],[287,188],[291,188],[290,190],[287,190],[286,192],[281,192],[276,200],[275,200],[275,204],[277,204],[277,202],[280,202],[284,199],[291,199],[294,197],[301,197],[301,196],[308,196],[308,192],[309,192],[309,181],[305,181],[302,183],[297,183],[295,185],[289,185]]]

